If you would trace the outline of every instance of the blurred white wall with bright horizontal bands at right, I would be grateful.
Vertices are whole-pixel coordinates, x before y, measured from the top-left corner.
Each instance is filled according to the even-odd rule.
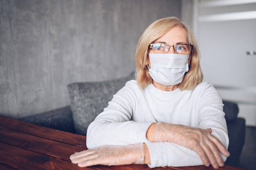
[[[194,0],[193,20],[204,81],[238,103],[238,117],[256,125],[256,0]],[[183,11],[183,10],[182,10]]]

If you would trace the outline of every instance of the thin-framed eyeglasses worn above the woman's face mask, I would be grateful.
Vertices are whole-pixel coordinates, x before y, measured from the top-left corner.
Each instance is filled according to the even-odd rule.
[[[168,53],[170,47],[173,47],[173,50],[177,54],[190,54],[193,45],[189,44],[179,44],[179,45],[166,45],[166,44],[150,44],[149,48],[152,53]]]

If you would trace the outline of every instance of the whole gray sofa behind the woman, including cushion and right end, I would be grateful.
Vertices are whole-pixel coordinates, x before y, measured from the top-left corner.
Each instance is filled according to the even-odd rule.
[[[27,116],[20,120],[66,132],[86,135],[88,125],[108,105],[112,96],[134,75],[103,82],[72,83],[67,86],[70,106]],[[223,101],[229,133],[229,152],[226,164],[238,166],[245,142],[245,119],[237,118],[236,103]]]

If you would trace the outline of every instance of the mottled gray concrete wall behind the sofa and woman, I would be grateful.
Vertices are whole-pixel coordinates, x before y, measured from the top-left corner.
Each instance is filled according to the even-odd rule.
[[[63,107],[69,83],[127,76],[144,29],[180,11],[179,0],[0,0],[0,113]]]

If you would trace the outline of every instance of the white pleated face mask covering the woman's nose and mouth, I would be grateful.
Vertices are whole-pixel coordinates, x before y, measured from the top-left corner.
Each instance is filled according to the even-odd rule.
[[[177,85],[189,71],[189,55],[149,54],[151,68],[148,68],[154,81],[162,85]]]

